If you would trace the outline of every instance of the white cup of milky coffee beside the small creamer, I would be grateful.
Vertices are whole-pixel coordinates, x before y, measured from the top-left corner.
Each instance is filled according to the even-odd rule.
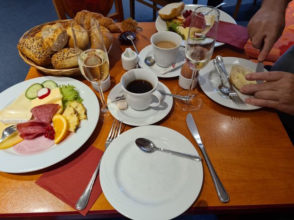
[[[153,57],[158,66],[168,67],[176,63],[176,56],[182,43],[182,38],[171,31],[160,31],[150,38]]]

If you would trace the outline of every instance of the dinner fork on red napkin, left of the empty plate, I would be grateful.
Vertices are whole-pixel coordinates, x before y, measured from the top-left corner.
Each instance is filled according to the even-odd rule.
[[[111,129],[109,131],[108,137],[107,137],[106,142],[105,142],[105,150],[107,149],[107,147],[109,146],[109,144],[116,137],[118,137],[120,135],[121,128],[122,128],[122,121],[121,120],[114,119],[114,121],[112,123],[112,126],[111,126]],[[91,194],[91,191],[92,191],[92,187],[93,187],[94,181],[96,179],[96,176],[97,176],[98,171],[99,171],[99,168],[100,168],[100,163],[101,163],[102,157],[103,157],[103,155],[101,156],[101,158],[99,160],[99,163],[97,165],[97,168],[94,171],[93,176],[90,179],[90,182],[89,182],[88,186],[86,187],[86,189],[83,192],[83,194],[80,196],[80,198],[75,203],[75,208],[78,209],[78,210],[84,209],[87,206],[87,204],[88,204],[88,201],[89,201],[89,198],[90,198],[90,194]]]

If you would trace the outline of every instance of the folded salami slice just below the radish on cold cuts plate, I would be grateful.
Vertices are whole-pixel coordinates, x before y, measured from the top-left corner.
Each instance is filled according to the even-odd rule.
[[[59,108],[58,104],[44,104],[32,108],[31,112],[36,119],[50,123]]]

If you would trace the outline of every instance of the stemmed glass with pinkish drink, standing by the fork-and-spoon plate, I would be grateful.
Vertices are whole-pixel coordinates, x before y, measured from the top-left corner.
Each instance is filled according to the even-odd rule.
[[[197,7],[191,18],[188,39],[186,43],[186,62],[193,70],[189,90],[182,90],[178,95],[188,96],[189,101],[177,99],[177,106],[186,111],[195,111],[202,107],[203,101],[193,90],[193,81],[199,70],[206,66],[211,59],[220,19],[219,10],[210,6]]]

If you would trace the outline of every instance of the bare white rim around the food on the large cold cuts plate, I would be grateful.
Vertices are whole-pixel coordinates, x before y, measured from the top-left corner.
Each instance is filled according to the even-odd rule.
[[[83,105],[87,110],[88,119],[82,120],[80,127],[71,136],[54,144],[48,150],[39,154],[17,154],[12,147],[0,150],[0,171],[7,173],[26,173],[49,167],[79,149],[94,131],[99,117],[99,103],[95,93],[84,83],[68,78],[45,76],[30,79],[14,85],[0,93],[0,110],[10,105],[29,86],[34,83],[42,83],[45,80],[53,80],[57,85],[73,85],[78,89],[83,98]]]

